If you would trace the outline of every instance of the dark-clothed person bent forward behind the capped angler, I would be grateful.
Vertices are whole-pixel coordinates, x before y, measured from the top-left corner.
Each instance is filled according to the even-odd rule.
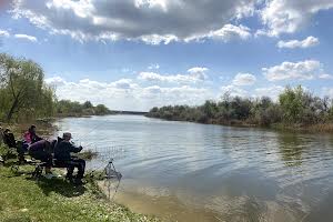
[[[29,147],[29,154],[36,160],[46,162],[46,174],[48,179],[52,178],[52,142],[48,140],[40,140]]]

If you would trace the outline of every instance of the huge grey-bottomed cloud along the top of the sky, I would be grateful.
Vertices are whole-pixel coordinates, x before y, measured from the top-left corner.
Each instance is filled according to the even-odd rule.
[[[231,21],[252,16],[258,0],[13,0],[13,18],[80,41],[248,39],[250,29]]]

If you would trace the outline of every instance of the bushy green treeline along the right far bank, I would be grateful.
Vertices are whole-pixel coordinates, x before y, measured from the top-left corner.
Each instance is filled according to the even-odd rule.
[[[199,107],[169,105],[153,108],[147,114],[165,120],[230,125],[314,125],[333,123],[332,99],[319,98],[303,88],[286,87],[278,102],[263,97],[249,99],[224,94],[220,101]]]

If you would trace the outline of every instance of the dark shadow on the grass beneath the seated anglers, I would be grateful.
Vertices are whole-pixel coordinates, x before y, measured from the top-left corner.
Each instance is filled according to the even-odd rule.
[[[29,179],[33,180],[33,179]],[[48,180],[41,178],[37,181],[37,184],[42,189],[46,195],[50,195],[51,192],[56,192],[65,198],[74,198],[84,194],[87,189],[83,185],[74,185],[63,178],[53,178]]]

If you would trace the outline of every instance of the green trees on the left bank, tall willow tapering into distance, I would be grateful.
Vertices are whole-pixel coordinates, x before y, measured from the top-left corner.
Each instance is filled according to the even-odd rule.
[[[58,101],[54,89],[44,83],[44,72],[39,64],[0,53],[0,122],[109,113],[111,111],[103,104]]]

